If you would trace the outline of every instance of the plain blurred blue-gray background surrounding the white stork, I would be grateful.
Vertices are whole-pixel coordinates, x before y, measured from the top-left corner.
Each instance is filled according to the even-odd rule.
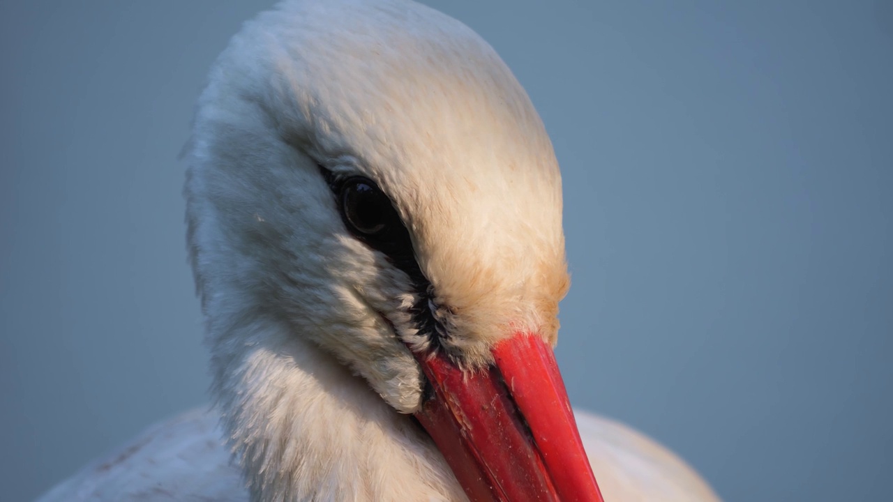
[[[177,155],[269,4],[0,4],[4,501],[204,402]],[[893,3],[430,4],[555,143],[575,405],[723,498],[893,499]]]

